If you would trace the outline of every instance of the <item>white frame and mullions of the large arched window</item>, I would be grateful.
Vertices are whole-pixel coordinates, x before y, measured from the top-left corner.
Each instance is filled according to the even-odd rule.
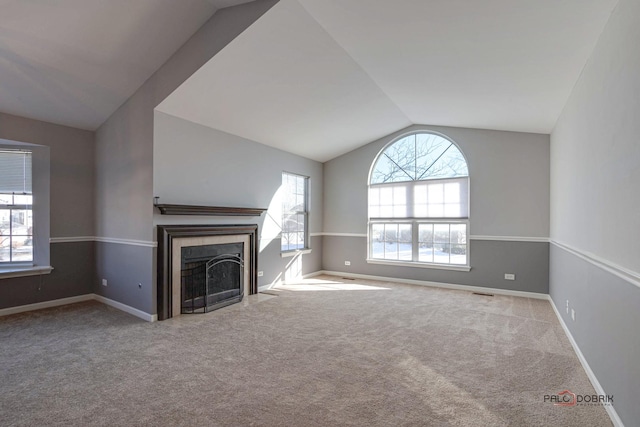
[[[380,156],[384,155],[389,147],[393,144],[403,140],[404,138],[410,137],[411,135],[417,134],[430,134],[441,137],[451,144],[455,148],[458,149],[467,166],[467,171],[469,168],[469,162],[464,154],[464,152],[460,149],[458,144],[456,144],[453,140],[451,140],[446,135],[443,135],[439,132],[433,132],[428,130],[418,130],[408,132],[402,135],[397,136],[392,139],[390,142],[385,144],[385,146],[378,152],[373,162],[371,163],[371,167],[369,170],[368,181],[367,181],[367,263],[370,264],[382,264],[382,265],[394,265],[394,266],[409,266],[409,267],[419,267],[419,268],[433,268],[433,269],[443,269],[443,270],[454,270],[454,271],[470,271],[471,263],[470,263],[470,198],[471,198],[471,178],[470,173],[467,173],[465,177],[445,177],[445,178],[434,178],[434,179],[422,179],[422,180],[407,180],[407,181],[398,181],[398,182],[386,182],[386,183],[371,183],[373,178],[373,174],[380,159]],[[415,202],[415,187],[416,185],[420,185],[420,183],[435,183],[435,182],[446,182],[452,180],[461,180],[466,179],[466,185],[464,187],[464,191],[466,191],[466,200],[460,200],[459,204],[466,208],[466,215],[461,215],[460,217],[429,217],[429,216],[415,216],[416,211],[416,202]],[[402,217],[372,217],[371,215],[371,188],[380,188],[384,186],[405,186],[406,195],[405,195],[405,209],[406,216]],[[462,190],[461,190],[462,191]],[[461,193],[461,197],[463,194]],[[443,202],[443,205],[446,205]],[[381,205],[382,206],[382,205]],[[428,206],[428,204],[427,204]],[[393,209],[393,207],[392,207]],[[374,258],[373,256],[373,226],[374,224],[411,224],[411,247],[412,247],[412,256],[411,260],[395,260],[395,259],[385,259],[385,258]],[[420,241],[419,241],[419,226],[420,224],[464,224],[465,225],[465,245],[466,245],[466,262],[465,264],[452,264],[452,263],[438,263],[438,262],[429,262],[429,261],[420,261],[419,260],[419,251],[420,251]],[[451,237],[450,237],[451,238]],[[451,245],[452,243],[449,242]]]

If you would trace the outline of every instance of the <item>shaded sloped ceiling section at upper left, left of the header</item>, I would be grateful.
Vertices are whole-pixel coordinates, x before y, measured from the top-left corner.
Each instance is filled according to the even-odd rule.
[[[0,111],[96,129],[213,13],[249,0],[0,0]]]

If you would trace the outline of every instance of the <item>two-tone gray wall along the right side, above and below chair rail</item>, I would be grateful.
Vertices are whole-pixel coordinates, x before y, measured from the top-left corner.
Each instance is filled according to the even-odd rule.
[[[638,40],[640,2],[620,0],[551,134],[551,238],[574,250],[552,248],[551,297],[630,426],[640,423]]]

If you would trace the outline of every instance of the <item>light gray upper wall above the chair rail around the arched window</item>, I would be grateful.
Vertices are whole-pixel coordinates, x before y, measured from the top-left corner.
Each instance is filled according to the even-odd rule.
[[[447,135],[467,158],[470,234],[549,237],[549,136],[439,126],[411,126],[325,163],[325,232],[367,232],[371,164],[386,144],[415,130]]]

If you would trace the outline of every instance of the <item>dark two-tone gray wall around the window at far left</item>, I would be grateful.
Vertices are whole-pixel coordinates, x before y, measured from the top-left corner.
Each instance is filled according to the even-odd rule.
[[[0,113],[0,138],[49,147],[50,236],[93,236],[94,133]],[[0,309],[91,293],[93,248],[93,242],[52,243],[53,272],[0,279]]]

